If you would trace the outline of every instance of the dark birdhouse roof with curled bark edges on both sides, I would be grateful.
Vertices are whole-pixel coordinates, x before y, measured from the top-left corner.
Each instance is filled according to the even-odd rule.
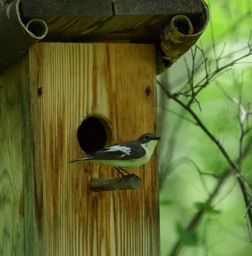
[[[203,0],[14,0],[0,11],[0,70],[40,40],[157,44],[159,65],[167,68],[208,21]],[[166,42],[177,31],[184,44]]]

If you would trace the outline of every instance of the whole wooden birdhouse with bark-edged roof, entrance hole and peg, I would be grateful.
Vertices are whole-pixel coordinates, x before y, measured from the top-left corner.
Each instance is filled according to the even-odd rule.
[[[0,254],[160,255],[157,154],[84,152],[157,134],[156,76],[209,20],[203,0],[15,0],[0,11]]]

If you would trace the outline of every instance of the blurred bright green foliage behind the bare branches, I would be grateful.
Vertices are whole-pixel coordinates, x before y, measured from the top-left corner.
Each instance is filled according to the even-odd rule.
[[[252,29],[252,0],[211,0],[209,4],[211,22],[197,45],[201,46],[200,41],[202,42],[207,57],[213,60],[213,70],[215,61],[212,51],[212,31],[217,56],[221,53],[224,43],[226,45],[223,56],[237,52],[235,56],[224,58],[220,66],[249,51],[247,45]],[[239,51],[240,49],[243,50]],[[185,57],[190,66],[191,52],[187,52]],[[252,58],[249,56],[242,61],[249,62]],[[252,109],[251,66],[251,63],[235,65],[232,70],[217,79],[224,90],[237,99],[242,86],[242,104],[246,109],[249,107],[249,102]],[[203,76],[205,76],[204,68],[198,72],[195,81],[200,81]],[[172,92],[177,92],[177,89],[187,81],[187,70],[183,58],[169,68],[168,81]],[[194,104],[195,113],[200,116],[212,134],[219,138],[232,159],[236,159],[239,150],[237,105],[227,99],[216,81],[202,90],[197,99],[200,101],[202,111],[197,104]],[[167,107],[177,113],[184,113],[173,100],[167,101]],[[159,111],[164,110],[159,108]],[[187,114],[185,116],[190,118]],[[216,145],[196,125],[184,120],[175,134],[173,128],[181,122],[181,118],[167,113],[164,122],[166,125],[162,131],[163,140],[159,148],[159,170],[167,169],[169,175],[160,193],[161,256],[170,255],[169,252],[179,237],[182,237],[183,243],[179,255],[251,256],[252,243],[249,243],[248,228],[244,219],[246,207],[235,177],[227,180],[221,193],[214,200],[214,207],[207,209],[208,213],[205,214],[195,232],[184,234],[184,227],[197,209],[204,207],[201,203],[209,198],[209,193],[217,183],[212,176],[200,176],[195,166],[187,159],[191,159],[202,172],[207,173],[221,173],[228,168],[228,163]],[[249,122],[252,125],[252,116]],[[171,154],[169,151],[171,140],[175,140],[172,161],[177,164],[175,168],[169,170],[171,166],[168,163],[168,156]],[[242,164],[242,171],[250,181],[252,180],[251,166],[252,153],[249,153]],[[202,179],[205,181],[206,188]]]

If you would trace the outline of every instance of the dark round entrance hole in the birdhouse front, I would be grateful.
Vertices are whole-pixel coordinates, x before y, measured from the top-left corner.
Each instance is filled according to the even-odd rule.
[[[111,143],[111,139],[111,125],[102,115],[87,116],[77,130],[79,145],[87,154],[104,148]]]

